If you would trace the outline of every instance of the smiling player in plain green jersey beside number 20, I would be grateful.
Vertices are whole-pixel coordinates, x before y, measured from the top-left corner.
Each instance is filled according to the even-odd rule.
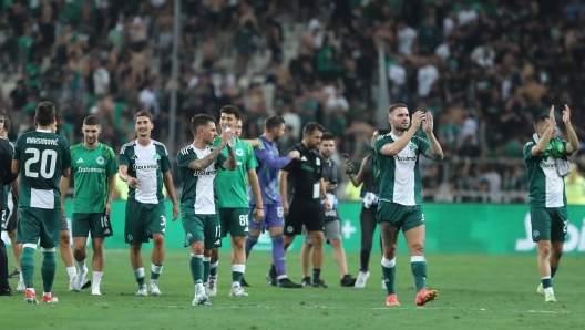
[[[85,246],[91,234],[93,247],[93,285],[92,295],[101,295],[105,264],[104,240],[112,236],[110,223],[112,198],[115,189],[115,175],[117,166],[114,151],[100,143],[98,138],[102,132],[100,120],[90,115],[83,120],[83,143],[71,147],[73,169],[73,257],[79,265],[79,274],[73,281],[73,290],[79,292],[85,280],[88,267],[85,266]],[[61,200],[66,195],[69,178],[61,178]],[[62,206],[63,214],[65,208]]]

